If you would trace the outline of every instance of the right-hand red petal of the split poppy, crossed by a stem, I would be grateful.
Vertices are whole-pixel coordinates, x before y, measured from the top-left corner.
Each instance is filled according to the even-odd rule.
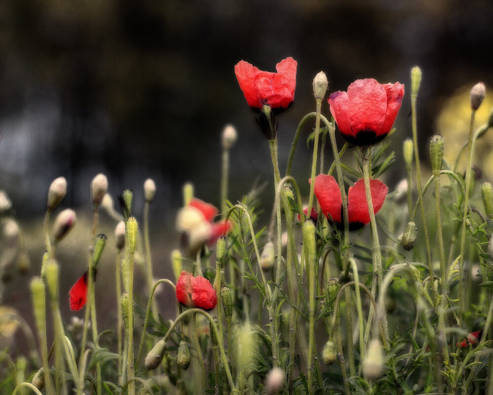
[[[379,180],[370,180],[370,190],[372,193],[373,212],[378,213],[387,195],[387,185]],[[368,203],[366,200],[365,180],[358,180],[354,186],[349,187],[347,192],[347,215],[349,223],[362,223],[366,225],[370,222]]]

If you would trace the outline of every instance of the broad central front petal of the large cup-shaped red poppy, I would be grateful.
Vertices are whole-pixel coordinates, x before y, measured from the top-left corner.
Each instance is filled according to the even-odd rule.
[[[374,132],[378,136],[387,111],[383,86],[373,78],[357,79],[347,88],[347,97],[353,134]]]

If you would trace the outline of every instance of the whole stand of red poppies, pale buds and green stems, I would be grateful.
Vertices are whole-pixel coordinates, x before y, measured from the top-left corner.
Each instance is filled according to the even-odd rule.
[[[277,132],[295,100],[297,65],[287,58],[276,72],[245,61],[234,67],[270,148],[270,221],[260,223],[258,189],[228,200],[229,150],[237,132],[227,125],[220,208],[184,185],[176,216],[182,249],[168,259],[172,279],[156,280],[152,273],[154,181],[144,183],[139,220],[132,192],[123,192],[123,220],[107,237],[98,224],[109,181],[98,174],[90,184],[87,271],[69,298],[60,295],[60,242],[76,224],[76,212],[57,213],[70,185],[64,177],[53,180],[46,252],[29,288],[34,318],[0,303],[0,337],[20,328],[32,345],[27,355],[0,349],[1,394],[493,394],[493,185],[476,182],[473,166],[476,144],[493,126],[493,112],[485,124],[475,123],[485,85],[470,90],[468,140],[453,162],[444,159],[444,138],[430,139],[424,161],[430,169],[418,152],[419,67],[411,69],[406,87],[367,78],[345,92],[331,92],[319,72],[315,111],[300,121],[281,171]],[[412,111],[401,136],[409,137],[396,153],[389,146],[404,99]],[[302,136],[313,149],[311,174],[295,180],[293,157]],[[326,144],[332,155],[325,154]],[[396,160],[405,174],[392,191],[384,181]],[[301,186],[309,186],[308,195]],[[21,261],[26,246],[11,206],[2,193],[4,250]],[[111,294],[119,309],[111,327],[99,327],[98,317],[108,315],[95,297],[95,287],[105,286],[96,278],[107,243],[117,251]],[[136,255],[144,257],[146,295],[134,289]],[[155,303],[158,287],[173,288],[174,315]],[[73,311],[83,309],[83,320],[62,316],[60,306],[68,303]]]

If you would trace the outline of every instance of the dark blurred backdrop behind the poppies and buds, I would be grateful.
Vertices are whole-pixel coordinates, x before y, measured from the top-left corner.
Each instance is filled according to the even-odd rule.
[[[174,221],[183,183],[191,181],[199,198],[219,204],[220,135],[227,123],[239,134],[229,197],[239,200],[267,182],[262,198],[269,210],[268,144],[238,88],[233,67],[239,60],[265,71],[288,56],[298,61],[295,104],[279,117],[281,169],[299,120],[314,110],[311,82],[319,71],[335,91],[366,77],[409,86],[409,71],[419,65],[424,162],[435,132],[460,146],[468,89],[479,80],[493,87],[492,21],[491,0],[1,0],[0,189],[25,232],[31,269],[2,285],[0,302],[31,309],[27,284],[38,274],[46,191],[58,176],[69,182],[62,206],[79,217],[60,248],[62,295],[85,270],[89,182],[99,172],[108,175],[115,200],[124,188],[134,190],[139,218],[143,182],[155,180],[156,276],[170,272],[169,251],[179,247]],[[329,115],[328,105],[323,111]],[[398,161],[386,179],[391,189],[403,175],[398,163],[402,140],[411,134],[409,112],[406,95],[392,143]],[[311,154],[303,143],[309,132],[295,156],[298,180],[309,175]],[[306,192],[307,182],[301,185]],[[110,252],[98,276],[109,287],[115,223],[102,215]],[[102,303],[110,311],[115,302]],[[68,303],[65,309],[69,314]]]

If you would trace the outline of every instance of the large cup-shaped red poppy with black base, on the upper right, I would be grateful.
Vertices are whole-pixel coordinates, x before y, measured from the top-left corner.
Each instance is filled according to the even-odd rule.
[[[403,84],[382,85],[368,78],[357,79],[347,92],[332,93],[328,102],[342,137],[354,145],[371,145],[392,128],[403,96]]]

